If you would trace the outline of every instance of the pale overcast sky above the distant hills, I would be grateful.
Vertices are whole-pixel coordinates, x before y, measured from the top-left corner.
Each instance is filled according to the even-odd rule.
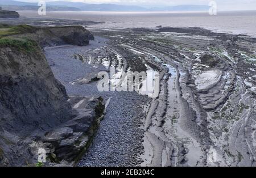
[[[42,0],[16,0],[39,2]],[[45,0],[56,1],[56,0]],[[143,7],[175,6],[175,5],[208,5],[211,0],[64,0],[85,3],[114,3],[121,5],[138,5]],[[256,0],[215,0],[220,10],[256,10]]]

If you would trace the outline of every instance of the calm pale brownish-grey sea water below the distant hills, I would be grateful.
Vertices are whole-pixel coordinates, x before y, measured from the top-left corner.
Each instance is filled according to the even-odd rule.
[[[23,17],[60,18],[106,22],[94,27],[202,27],[217,32],[246,34],[256,37],[256,11],[218,12],[211,16],[207,12],[47,12],[39,16],[36,12],[21,11]]]

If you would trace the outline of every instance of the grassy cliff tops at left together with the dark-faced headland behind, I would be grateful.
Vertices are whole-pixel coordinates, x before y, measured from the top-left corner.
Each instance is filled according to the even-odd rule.
[[[0,46],[15,48],[23,52],[33,52],[40,46],[88,45],[93,35],[81,26],[32,27],[28,25],[10,26],[0,24]]]

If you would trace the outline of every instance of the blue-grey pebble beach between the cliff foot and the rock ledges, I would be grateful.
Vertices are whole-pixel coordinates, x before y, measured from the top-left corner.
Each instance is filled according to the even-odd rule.
[[[111,98],[92,145],[77,166],[139,166],[141,164],[139,156],[143,149],[141,126],[144,114],[141,106],[147,104],[150,99],[137,92],[98,92],[97,82],[86,85],[71,84],[73,80],[86,75],[96,67],[72,58],[72,53],[84,54],[87,50],[102,47],[99,43],[105,46],[104,39],[96,36],[96,41],[93,41],[89,46],[45,48],[46,57],[52,67],[53,74],[65,86],[69,96],[100,95],[105,102]],[[56,56],[56,54],[61,54],[61,56]],[[67,62],[69,60],[72,65]],[[67,69],[67,66],[71,68]],[[103,67],[98,66],[104,70]],[[63,73],[71,74],[72,70],[76,70],[72,77],[63,75]],[[77,71],[85,72],[80,74]]]

